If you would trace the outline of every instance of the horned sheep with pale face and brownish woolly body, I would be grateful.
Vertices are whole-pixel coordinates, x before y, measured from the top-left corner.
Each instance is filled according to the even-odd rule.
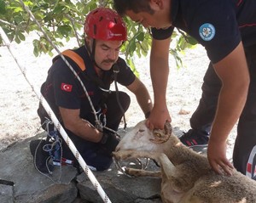
[[[165,132],[166,131],[166,132]],[[150,131],[145,121],[126,133],[113,152],[116,161],[149,158],[158,163],[160,172],[127,168],[132,176],[160,176],[161,199],[164,203],[255,203],[256,181],[233,170],[232,176],[214,172],[206,155],[183,145],[165,130]]]

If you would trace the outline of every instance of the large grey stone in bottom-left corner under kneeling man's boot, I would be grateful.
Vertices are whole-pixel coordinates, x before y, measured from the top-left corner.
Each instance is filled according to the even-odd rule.
[[[41,137],[39,134],[34,138]],[[50,176],[40,174],[33,166],[29,150],[29,143],[34,138],[12,144],[0,153],[0,179],[3,183],[13,183],[9,187],[13,187],[15,202],[72,202],[78,194],[72,183],[77,170],[73,166],[57,166]],[[0,202],[7,202],[5,196],[0,196]]]

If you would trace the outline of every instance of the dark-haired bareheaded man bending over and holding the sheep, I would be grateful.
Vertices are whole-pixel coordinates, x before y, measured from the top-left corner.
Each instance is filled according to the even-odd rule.
[[[121,15],[152,27],[150,70],[154,108],[148,127],[163,128],[171,121],[166,107],[169,46],[175,27],[207,49],[211,60],[200,105],[190,123],[196,139],[210,133],[207,157],[212,168],[231,174],[226,140],[239,119],[233,153],[236,169],[253,178],[256,154],[256,2],[253,0],[113,0]],[[209,129],[211,132],[209,132]],[[191,132],[191,131],[190,131]],[[199,132],[199,133],[198,133]],[[195,137],[183,136],[183,144]],[[255,160],[255,158],[254,158]],[[255,176],[255,174],[254,174]]]

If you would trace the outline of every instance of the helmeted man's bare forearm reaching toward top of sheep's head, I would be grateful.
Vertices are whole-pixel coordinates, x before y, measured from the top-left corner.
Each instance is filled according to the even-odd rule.
[[[145,115],[152,110],[152,100],[143,82],[136,77],[135,81],[127,86],[127,88],[136,95],[137,103],[140,105]]]

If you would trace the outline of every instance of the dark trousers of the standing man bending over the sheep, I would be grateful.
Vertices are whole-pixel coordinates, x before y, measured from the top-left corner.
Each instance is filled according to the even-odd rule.
[[[250,178],[253,178],[256,176],[256,45],[245,48],[245,53],[251,82],[247,102],[238,121],[233,163],[239,172],[249,176],[252,174]],[[221,86],[221,81],[210,64],[201,87],[200,103],[190,118],[190,126],[193,129],[210,132]],[[249,157],[251,157],[251,161],[249,161]]]

